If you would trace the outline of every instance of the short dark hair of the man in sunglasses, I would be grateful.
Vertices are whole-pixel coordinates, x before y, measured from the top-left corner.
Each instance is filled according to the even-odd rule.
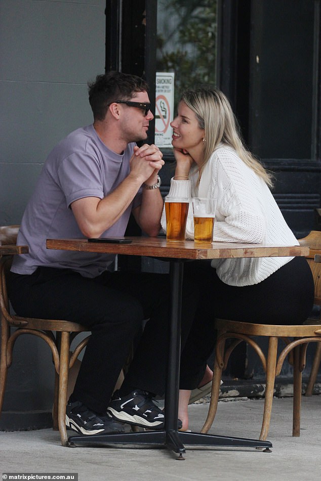
[[[148,84],[145,80],[122,72],[97,75],[94,82],[88,83],[88,87],[94,120],[103,120],[112,102],[130,100],[137,92],[148,92]]]

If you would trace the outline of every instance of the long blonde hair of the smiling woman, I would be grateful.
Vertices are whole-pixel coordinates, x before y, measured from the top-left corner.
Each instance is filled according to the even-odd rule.
[[[269,187],[272,187],[272,174],[265,170],[263,165],[244,146],[230,103],[220,90],[211,86],[199,86],[196,89],[186,90],[180,100],[195,113],[199,127],[205,130],[204,162],[199,168],[198,181],[205,164],[218,144],[222,142],[232,147],[240,159],[252,168]]]

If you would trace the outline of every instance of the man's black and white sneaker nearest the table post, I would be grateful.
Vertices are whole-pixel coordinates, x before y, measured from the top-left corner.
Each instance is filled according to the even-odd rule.
[[[119,398],[116,391],[107,408],[114,419],[149,429],[164,429],[164,412],[152,400],[149,392],[136,389]],[[182,421],[178,420],[178,429]]]

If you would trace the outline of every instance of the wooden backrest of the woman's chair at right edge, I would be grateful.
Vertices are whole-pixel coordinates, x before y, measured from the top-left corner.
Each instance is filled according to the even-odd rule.
[[[314,280],[314,304],[321,305],[321,263],[318,261],[321,255],[321,231],[311,231],[306,237],[299,239],[299,242],[310,248],[306,258]]]

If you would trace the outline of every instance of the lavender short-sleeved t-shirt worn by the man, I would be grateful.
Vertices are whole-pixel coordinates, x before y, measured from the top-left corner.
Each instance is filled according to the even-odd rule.
[[[49,154],[35,191],[24,212],[17,243],[29,253],[15,256],[12,271],[32,274],[38,266],[72,269],[84,277],[96,277],[114,259],[113,254],[49,250],[46,239],[83,238],[70,204],[83,197],[102,199],[129,174],[134,143],[122,154],[109,150],[93,125],[78,128]],[[131,210],[141,203],[141,190],[103,236],[125,234]]]

